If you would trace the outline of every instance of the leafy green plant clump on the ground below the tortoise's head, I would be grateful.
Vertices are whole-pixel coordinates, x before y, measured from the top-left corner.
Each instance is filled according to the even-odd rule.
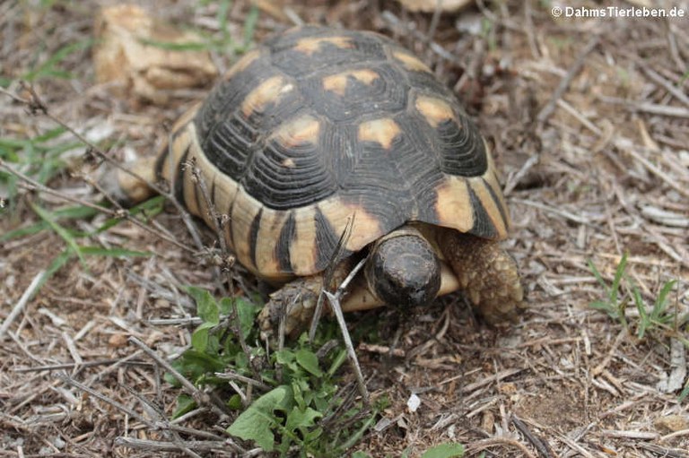
[[[353,400],[350,388],[340,386],[338,369],[346,361],[346,350],[340,345],[318,350],[332,341],[334,326],[322,326],[312,343],[302,334],[291,346],[268,353],[253,326],[259,306],[244,298],[216,301],[208,291],[194,287],[187,291],[202,324],[192,334],[191,347],[173,366],[195,385],[215,388],[228,409],[240,411],[227,428],[232,436],[282,456],[294,449],[301,456],[341,456],[371,428],[384,400],[372,407]],[[238,328],[246,349],[238,339]],[[236,388],[230,389],[222,371],[236,377]],[[171,375],[166,379],[179,384]],[[237,392],[244,383],[240,381],[249,379],[259,392],[250,402],[246,394]],[[175,416],[195,407],[188,395],[180,395]]]

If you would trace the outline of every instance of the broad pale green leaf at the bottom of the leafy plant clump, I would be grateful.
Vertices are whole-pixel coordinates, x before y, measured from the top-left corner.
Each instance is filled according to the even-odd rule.
[[[291,390],[284,385],[278,386],[253,402],[227,428],[227,432],[244,440],[252,440],[266,452],[272,452],[275,449],[273,429],[278,426],[275,410],[287,411],[291,407]]]

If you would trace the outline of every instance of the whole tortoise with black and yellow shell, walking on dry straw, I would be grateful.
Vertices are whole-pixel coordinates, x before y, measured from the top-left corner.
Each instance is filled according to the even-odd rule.
[[[501,248],[510,217],[484,137],[428,66],[369,31],[290,29],[242,56],[168,144],[135,171],[164,178],[188,211],[214,217],[237,260],[277,289],[259,316],[288,308],[291,332],[325,285],[367,255],[345,311],[411,309],[464,289],[489,323],[524,307]],[[151,190],[118,172],[129,201]],[[341,238],[349,229],[349,237]]]

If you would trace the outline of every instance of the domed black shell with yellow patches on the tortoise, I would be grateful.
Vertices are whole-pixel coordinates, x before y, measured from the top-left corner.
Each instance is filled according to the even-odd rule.
[[[157,172],[210,221],[196,161],[241,264],[268,280],[323,271],[417,221],[505,238],[509,216],[483,137],[405,48],[303,27],[243,56],[174,126]]]

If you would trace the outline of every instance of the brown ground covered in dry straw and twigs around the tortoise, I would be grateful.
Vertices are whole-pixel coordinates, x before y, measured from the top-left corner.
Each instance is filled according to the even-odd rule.
[[[92,24],[107,3],[0,4],[0,197],[9,207],[0,213],[0,234],[41,220],[36,206],[55,210],[65,198],[99,199],[84,178],[94,160],[84,159],[83,147],[65,147],[50,193],[17,178],[39,176],[35,164],[8,175],[7,167],[23,163],[12,151],[43,151],[17,149],[15,140],[45,134],[58,121],[118,160],[127,151],[150,154],[212,85],[153,103],[97,83]],[[659,19],[622,16],[630,8],[650,11],[651,0],[612,2],[619,9],[605,10],[606,17],[571,17],[600,12],[592,2],[478,2],[434,15],[393,0],[257,1],[253,10],[238,1],[226,24],[218,22],[214,2],[140,4],[179,27],[240,42],[252,12],[256,40],[300,19],[385,33],[457,92],[493,145],[513,220],[505,246],[520,266],[528,311],[517,324],[491,328],[457,294],[401,324],[394,356],[360,337],[354,344],[368,389],[389,405],[352,450],[420,456],[432,445],[458,442],[469,456],[689,456],[682,321],[689,307],[689,4],[663,3],[663,12],[685,16]],[[214,48],[212,58],[224,70],[237,57]],[[24,103],[36,96],[43,107]],[[46,144],[75,142],[69,132],[56,135]],[[42,157],[38,167],[48,170],[50,160]],[[153,232],[122,223],[90,238],[92,245],[153,256],[74,257],[39,288],[35,279],[65,251],[65,238],[41,230],[2,239],[0,456],[172,453],[118,445],[116,438],[146,438],[146,430],[97,397],[140,410],[140,394],[168,415],[174,408],[179,390],[127,340],[134,336],[163,358],[188,344],[188,328],[148,321],[179,315],[149,283],[214,289],[209,261],[184,249],[191,238],[169,210],[148,222]],[[87,232],[106,219],[60,224]],[[181,246],[161,238],[161,228]],[[202,237],[212,244],[210,232]],[[615,307],[610,314],[590,307],[615,305],[599,280],[610,285],[623,259],[619,301],[630,307],[622,316]],[[665,296],[670,318],[641,338],[644,317],[630,295],[638,292],[650,308],[668,281],[676,281]],[[397,323],[391,314],[348,320],[376,320],[390,341],[390,323]],[[67,376],[88,390],[66,383]],[[407,407],[412,393],[421,401],[415,410]],[[197,429],[214,430],[212,418],[194,421]]]

